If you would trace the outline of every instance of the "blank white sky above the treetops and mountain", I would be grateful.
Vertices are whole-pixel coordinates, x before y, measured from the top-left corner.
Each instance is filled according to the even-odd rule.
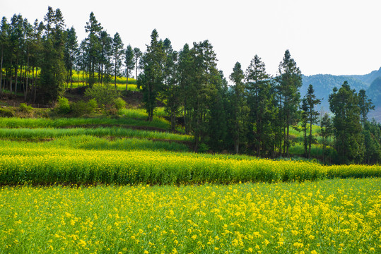
[[[110,35],[146,51],[153,29],[172,47],[209,40],[226,77],[245,71],[257,54],[276,75],[288,49],[305,75],[366,74],[381,67],[380,0],[0,0],[0,16],[20,13],[33,23],[60,8],[78,40],[93,11]]]

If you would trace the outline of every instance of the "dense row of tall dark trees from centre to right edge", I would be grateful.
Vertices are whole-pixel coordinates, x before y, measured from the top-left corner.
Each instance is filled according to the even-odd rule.
[[[316,143],[312,126],[319,122],[320,113],[316,108],[320,99],[315,96],[312,85],[307,94],[300,97],[302,76],[290,52],[286,50],[275,77],[266,73],[265,64],[257,55],[245,72],[240,63],[235,63],[230,74],[233,85],[230,86],[223,73],[217,70],[216,61],[216,54],[207,40],[194,42],[192,48],[185,44],[176,52],[170,40],[160,40],[158,32],[153,30],[138,77],[148,119],[153,119],[156,103],[161,101],[170,116],[172,130],[175,130],[175,116],[182,116],[185,131],[194,135],[195,151],[199,148],[233,150],[260,157],[289,157],[295,138],[290,131],[295,128],[303,131],[305,157],[310,158],[312,144]],[[367,120],[368,111],[373,107],[365,91],[351,92],[357,99],[336,95],[336,90],[330,97],[334,118],[333,124],[328,115],[321,121],[323,149],[327,150],[327,140],[334,135],[334,147],[339,156],[335,153],[334,158],[330,158],[333,162],[378,162],[380,125]],[[336,97],[342,101],[336,102]],[[352,103],[350,108],[357,118],[337,111],[348,103]],[[349,126],[341,126],[339,121]],[[356,140],[359,146],[348,145],[350,140]],[[366,145],[367,142],[373,145]],[[356,152],[356,156],[348,150]]]

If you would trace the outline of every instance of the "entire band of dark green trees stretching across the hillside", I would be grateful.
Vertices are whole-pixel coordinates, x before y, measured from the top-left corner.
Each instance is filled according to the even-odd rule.
[[[78,42],[59,8],[49,7],[43,20],[33,24],[20,14],[9,21],[3,17],[1,94],[22,94],[30,104],[54,106],[65,102],[65,91],[82,86],[88,95],[85,104],[110,109],[113,97],[102,98],[112,90],[117,94],[121,77],[126,78],[123,95],[129,96],[134,75],[147,120],[153,121],[163,107],[170,131],[182,126],[184,134],[194,136],[194,152],[291,157],[293,145],[301,143],[307,159],[320,145],[318,159],[324,164],[380,163],[381,125],[368,119],[374,106],[365,90],[353,90],[345,81],[329,95],[331,113],[318,111],[322,98],[312,85],[300,95],[302,73],[288,50],[275,76],[266,73],[265,63],[255,55],[246,70],[237,62],[225,77],[208,40],[177,51],[153,30],[145,51],[124,47],[119,33],[107,34],[94,13],[85,30],[87,37]]]

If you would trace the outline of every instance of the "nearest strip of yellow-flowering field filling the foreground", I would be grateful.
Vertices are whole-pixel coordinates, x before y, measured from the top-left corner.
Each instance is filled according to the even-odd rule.
[[[0,253],[380,253],[381,180],[2,187]]]

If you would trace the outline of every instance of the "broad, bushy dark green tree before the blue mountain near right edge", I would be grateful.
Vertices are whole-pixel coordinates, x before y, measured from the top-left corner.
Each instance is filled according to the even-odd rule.
[[[364,147],[358,95],[346,81],[329,95],[329,109],[334,113],[335,149],[339,162],[360,163]]]

